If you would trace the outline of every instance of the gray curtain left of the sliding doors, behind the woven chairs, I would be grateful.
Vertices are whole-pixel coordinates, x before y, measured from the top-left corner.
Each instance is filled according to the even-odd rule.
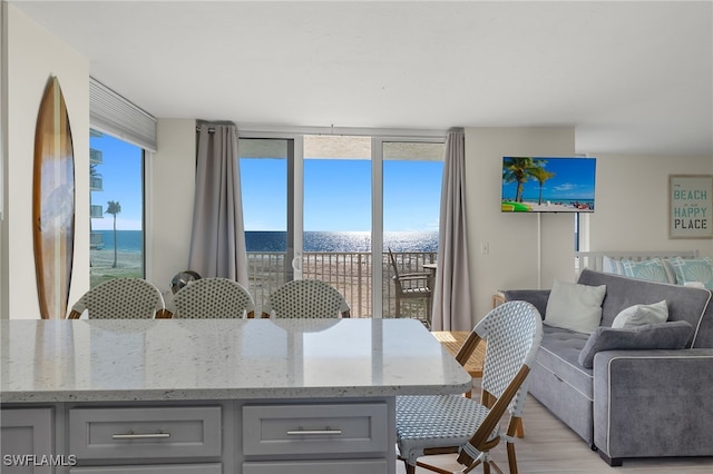
[[[247,288],[247,254],[234,125],[203,124],[198,131],[196,195],[188,268],[232,278]]]

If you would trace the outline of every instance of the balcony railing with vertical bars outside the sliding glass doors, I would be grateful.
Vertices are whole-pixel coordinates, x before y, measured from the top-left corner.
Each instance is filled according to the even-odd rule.
[[[399,271],[422,271],[423,264],[436,263],[432,251],[394,253]],[[284,253],[248,251],[250,292],[260,312],[270,294],[285,284],[292,275],[291,263]],[[385,254],[378,269],[383,276],[383,317],[392,317],[395,309],[393,271]],[[306,251],[302,258],[302,277],[321,279],[339,289],[351,308],[352,317],[371,317],[373,258],[364,251]],[[402,317],[426,317],[426,300],[403,303]]]

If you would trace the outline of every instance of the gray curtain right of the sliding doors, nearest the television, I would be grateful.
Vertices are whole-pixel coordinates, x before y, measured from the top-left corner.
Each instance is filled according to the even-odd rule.
[[[441,188],[439,251],[433,286],[433,330],[472,329],[466,226],[466,145],[448,132]]]

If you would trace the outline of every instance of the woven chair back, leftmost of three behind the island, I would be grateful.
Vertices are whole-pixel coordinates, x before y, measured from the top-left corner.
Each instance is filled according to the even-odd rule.
[[[152,319],[164,315],[158,288],[143,278],[114,278],[89,292],[71,307],[67,319]]]

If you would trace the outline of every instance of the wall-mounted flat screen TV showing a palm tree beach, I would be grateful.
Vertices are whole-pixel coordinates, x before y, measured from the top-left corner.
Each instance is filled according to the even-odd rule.
[[[502,213],[594,213],[596,158],[502,157]]]

